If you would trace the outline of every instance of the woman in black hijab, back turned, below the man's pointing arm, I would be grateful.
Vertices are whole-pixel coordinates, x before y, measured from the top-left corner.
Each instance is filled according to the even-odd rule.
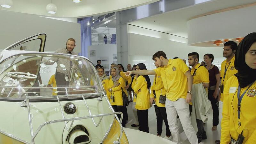
[[[136,65],[137,70],[146,70],[146,65],[143,63]],[[136,105],[135,108],[138,110],[139,130],[149,133],[148,131],[148,109],[150,108],[149,102],[149,89],[151,86],[148,75],[136,75],[136,82],[133,86],[133,90],[136,93]]]

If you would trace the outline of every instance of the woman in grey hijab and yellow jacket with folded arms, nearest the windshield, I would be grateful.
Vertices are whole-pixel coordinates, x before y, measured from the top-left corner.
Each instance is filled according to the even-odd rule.
[[[110,69],[112,78],[108,82],[108,92],[110,92],[110,104],[115,110],[115,112],[124,113],[123,106],[123,97],[122,97],[122,85],[124,83],[124,79],[119,75],[119,70],[117,67],[113,67]],[[117,115],[120,119],[120,114]],[[123,127],[125,127],[125,120],[122,121]]]

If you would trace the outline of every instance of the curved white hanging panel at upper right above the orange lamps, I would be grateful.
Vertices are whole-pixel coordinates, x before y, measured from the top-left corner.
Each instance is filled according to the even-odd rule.
[[[191,19],[187,22],[188,44],[245,37],[256,31],[255,13],[254,5]]]

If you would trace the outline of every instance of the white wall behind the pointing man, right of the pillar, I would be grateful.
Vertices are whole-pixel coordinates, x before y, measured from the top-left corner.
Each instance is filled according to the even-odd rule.
[[[137,29],[138,30],[138,29]],[[143,28],[141,28],[143,31]],[[160,32],[159,32],[160,33]],[[206,53],[214,55],[213,63],[220,66],[223,58],[223,48],[221,47],[196,47],[188,46],[185,43],[171,41],[166,38],[149,37],[134,33],[128,33],[129,39],[129,60],[128,63],[135,64],[136,60],[142,60],[149,65],[148,69],[154,68],[152,55],[157,51],[164,51],[167,58],[179,57],[188,61],[188,53],[197,52],[199,61],[203,61]],[[188,64],[188,62],[187,62]]]

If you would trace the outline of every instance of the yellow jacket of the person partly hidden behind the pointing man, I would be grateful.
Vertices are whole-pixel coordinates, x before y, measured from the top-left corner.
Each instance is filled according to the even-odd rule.
[[[164,107],[165,104],[159,103],[160,95],[165,95],[166,93],[161,76],[155,76],[153,85],[151,86],[150,98],[154,98],[153,90],[156,92],[156,106]]]

